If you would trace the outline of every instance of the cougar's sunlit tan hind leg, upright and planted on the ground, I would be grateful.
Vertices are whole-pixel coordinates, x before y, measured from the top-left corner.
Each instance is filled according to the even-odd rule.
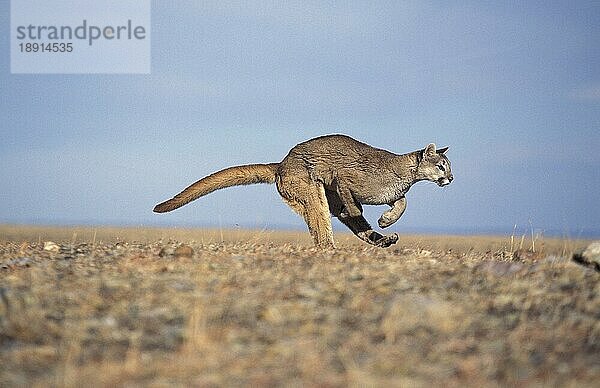
[[[334,248],[331,218],[322,184],[310,179],[277,179],[279,194],[300,214],[319,248]]]

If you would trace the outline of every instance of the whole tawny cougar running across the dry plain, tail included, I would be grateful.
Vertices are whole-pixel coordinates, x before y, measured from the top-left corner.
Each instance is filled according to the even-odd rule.
[[[405,195],[415,182],[440,187],[452,182],[447,150],[432,143],[397,155],[349,136],[321,136],[296,145],[280,163],[230,167],[202,178],[154,211],[169,212],[225,187],[275,183],[283,200],[304,218],[317,247],[335,247],[329,213],[361,240],[389,247],[398,235],[374,231],[362,205],[389,205],[378,220],[381,228],[389,227],[404,213]]]

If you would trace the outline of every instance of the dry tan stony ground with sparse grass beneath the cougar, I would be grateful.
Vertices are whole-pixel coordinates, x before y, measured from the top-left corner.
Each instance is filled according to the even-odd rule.
[[[586,241],[336,243],[0,226],[0,386],[598,386]]]

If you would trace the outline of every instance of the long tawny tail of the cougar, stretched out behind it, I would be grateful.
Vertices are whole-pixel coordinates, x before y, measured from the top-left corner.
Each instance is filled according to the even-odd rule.
[[[279,163],[249,164],[246,166],[229,167],[215,172],[188,186],[168,201],[159,203],[154,207],[154,212],[170,212],[206,194],[226,187],[250,185],[253,183],[275,183],[277,166],[279,166]]]

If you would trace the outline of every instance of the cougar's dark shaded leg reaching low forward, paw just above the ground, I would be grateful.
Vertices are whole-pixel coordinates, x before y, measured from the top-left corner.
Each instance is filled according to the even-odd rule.
[[[341,215],[344,208],[342,199],[339,194],[333,190],[325,190],[327,202],[329,204],[329,211],[337,217],[344,225],[348,227],[356,235],[366,243],[375,245],[378,247],[386,248],[398,241],[398,235],[393,233],[389,236],[381,235],[373,230],[369,222],[362,216],[358,217],[343,217]]]

